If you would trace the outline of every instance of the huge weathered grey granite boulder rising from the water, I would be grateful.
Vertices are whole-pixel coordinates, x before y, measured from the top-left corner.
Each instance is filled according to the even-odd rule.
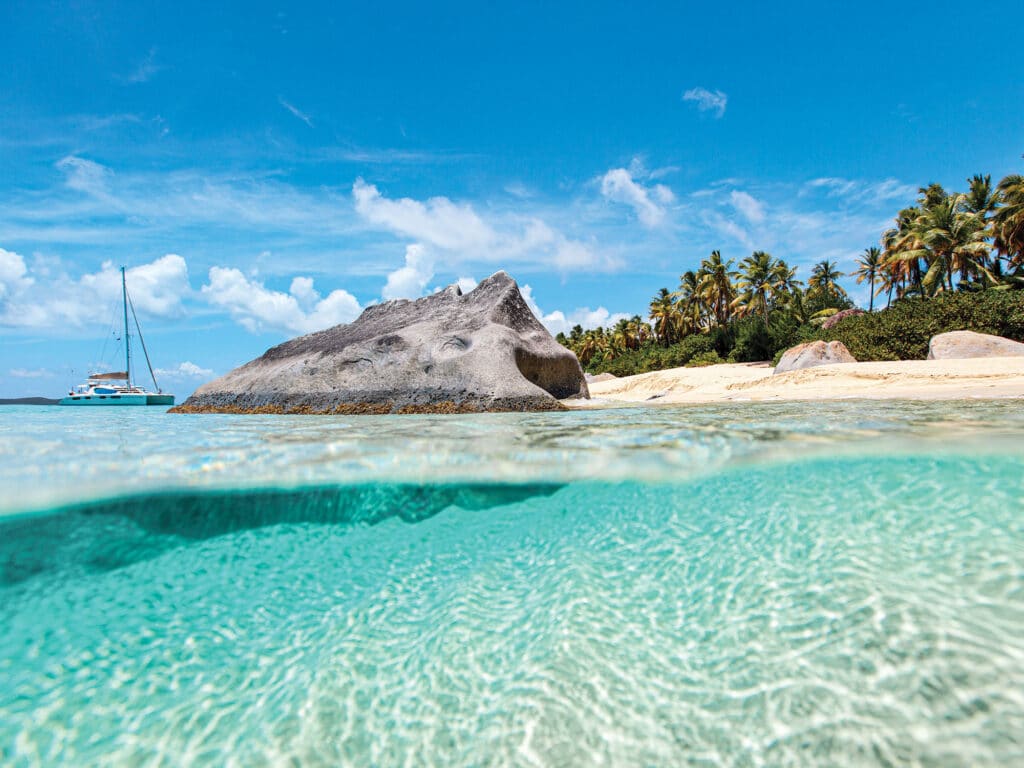
[[[552,411],[589,397],[575,355],[497,272],[416,301],[368,307],[205,384],[179,413],[387,414]]]

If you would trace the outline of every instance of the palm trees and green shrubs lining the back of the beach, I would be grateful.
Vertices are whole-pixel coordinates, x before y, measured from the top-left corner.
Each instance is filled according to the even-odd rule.
[[[927,339],[942,330],[1024,339],[1024,292],[1016,293],[1024,289],[1024,176],[993,185],[976,175],[967,184],[966,191],[921,187],[849,274],[822,259],[805,284],[798,267],[764,251],[737,261],[716,250],[683,272],[675,291],[659,289],[646,318],[575,326],[558,341],[587,371],[624,376],[772,359],[814,338],[839,339],[864,360],[923,357]],[[853,307],[841,285],[847,276],[867,284],[867,314],[843,315],[825,331],[825,321]]]

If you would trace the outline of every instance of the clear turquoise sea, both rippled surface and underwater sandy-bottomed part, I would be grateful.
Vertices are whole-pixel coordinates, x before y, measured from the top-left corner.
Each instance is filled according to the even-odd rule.
[[[0,409],[4,765],[1024,761],[1017,401]]]

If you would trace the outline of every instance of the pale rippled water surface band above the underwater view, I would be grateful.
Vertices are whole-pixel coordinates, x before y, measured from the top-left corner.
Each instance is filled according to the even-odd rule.
[[[664,482],[816,454],[1024,454],[1022,435],[1024,400],[316,419],[0,407],[0,515],[165,488]]]

